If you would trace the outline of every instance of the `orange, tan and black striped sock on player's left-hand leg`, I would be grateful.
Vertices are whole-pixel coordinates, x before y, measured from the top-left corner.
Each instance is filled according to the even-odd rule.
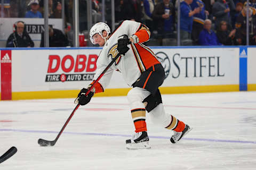
[[[147,131],[146,124],[146,109],[145,108],[136,108],[131,110],[132,120],[135,126],[135,132]]]

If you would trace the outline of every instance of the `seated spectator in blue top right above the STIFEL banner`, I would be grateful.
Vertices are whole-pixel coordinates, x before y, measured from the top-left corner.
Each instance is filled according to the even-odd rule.
[[[199,45],[201,46],[218,46],[222,45],[219,43],[219,40],[214,33],[213,30],[211,30],[212,27],[212,21],[211,20],[205,20],[204,21],[204,29],[199,34]]]

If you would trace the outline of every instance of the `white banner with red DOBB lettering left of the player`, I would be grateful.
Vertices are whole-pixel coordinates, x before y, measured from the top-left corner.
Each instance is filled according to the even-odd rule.
[[[13,50],[13,91],[69,90],[93,79],[99,49]]]

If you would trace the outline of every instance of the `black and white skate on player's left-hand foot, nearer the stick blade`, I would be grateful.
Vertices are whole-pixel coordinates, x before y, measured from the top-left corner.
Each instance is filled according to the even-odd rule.
[[[126,140],[127,149],[150,149],[148,133],[146,131],[134,133]]]

